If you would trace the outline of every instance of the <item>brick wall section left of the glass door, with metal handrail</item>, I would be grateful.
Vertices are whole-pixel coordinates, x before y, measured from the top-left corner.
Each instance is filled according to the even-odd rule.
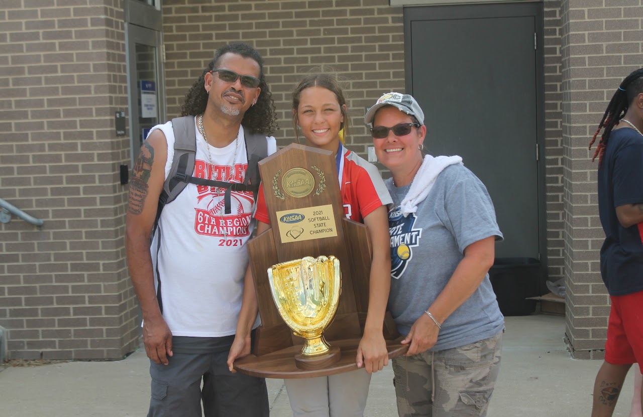
[[[119,358],[136,342],[123,251],[129,140],[123,7],[0,6],[0,198],[44,220],[0,223],[0,326],[10,356]]]

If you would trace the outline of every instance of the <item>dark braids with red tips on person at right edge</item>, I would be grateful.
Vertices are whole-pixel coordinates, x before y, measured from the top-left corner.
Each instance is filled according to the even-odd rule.
[[[601,123],[599,123],[599,128],[596,130],[592,141],[590,141],[590,149],[592,149],[596,137],[599,135],[599,132],[601,132],[601,129],[604,129],[601,140],[599,140],[599,144],[596,146],[596,152],[594,152],[594,156],[592,157],[592,162],[597,156],[599,157],[599,167],[601,166],[607,143],[610,140],[611,130],[625,116],[629,105],[640,93],[643,93],[643,68],[633,71],[622,80],[619,89],[611,96],[610,103],[602,116]]]

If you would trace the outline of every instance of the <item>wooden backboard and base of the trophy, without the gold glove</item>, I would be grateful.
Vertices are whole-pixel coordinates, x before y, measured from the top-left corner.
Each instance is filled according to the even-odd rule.
[[[253,355],[236,360],[234,368],[264,378],[320,377],[358,369],[372,249],[367,227],[345,217],[332,152],[293,143],[263,159],[259,171],[271,229],[250,240],[248,251],[262,325],[257,329]],[[275,304],[275,285],[271,284],[276,268],[292,267],[293,260],[307,257],[332,257],[339,261],[341,271],[336,314],[323,330],[331,349],[316,356],[300,353],[304,340],[282,318],[284,307]],[[292,325],[292,320],[287,321]],[[384,337],[389,358],[408,349],[395,340],[399,335],[388,312]]]

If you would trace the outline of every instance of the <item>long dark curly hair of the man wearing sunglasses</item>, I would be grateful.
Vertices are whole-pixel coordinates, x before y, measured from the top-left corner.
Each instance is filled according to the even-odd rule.
[[[185,102],[181,105],[181,116],[203,114],[208,104],[208,92],[205,91],[205,75],[213,69],[218,69],[219,60],[226,53],[234,53],[244,58],[250,58],[259,64],[259,88],[261,93],[257,98],[257,103],[244,113],[241,124],[250,132],[273,134],[279,127],[276,123],[273,94],[270,93],[270,89],[266,84],[266,76],[264,75],[264,58],[257,52],[257,49],[243,42],[234,42],[217,49],[208,67],[203,70],[203,74],[185,94]]]

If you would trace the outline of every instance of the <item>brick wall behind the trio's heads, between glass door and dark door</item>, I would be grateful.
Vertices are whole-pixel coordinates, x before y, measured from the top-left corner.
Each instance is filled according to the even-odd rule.
[[[167,114],[180,113],[187,89],[215,49],[248,42],[266,60],[280,130],[278,145],[294,139],[291,92],[312,67],[331,66],[345,78],[350,138],[366,153],[372,145],[363,123],[365,108],[381,94],[404,91],[404,31],[401,7],[388,0],[235,1],[194,4],[163,1]]]

